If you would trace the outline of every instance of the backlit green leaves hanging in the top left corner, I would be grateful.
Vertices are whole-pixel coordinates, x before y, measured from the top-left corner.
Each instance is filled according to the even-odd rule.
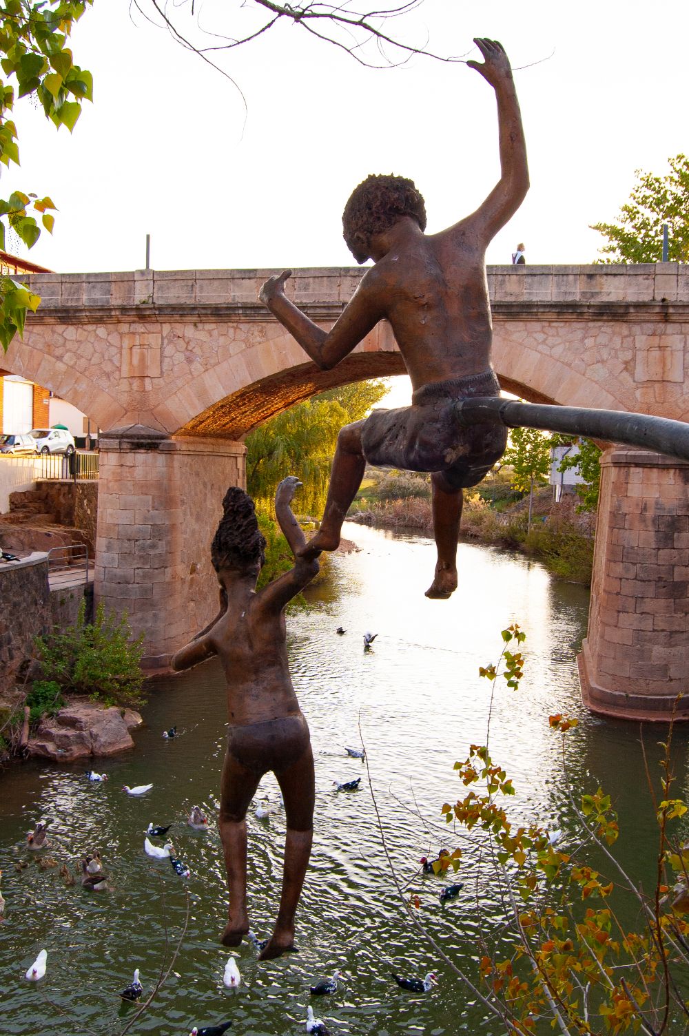
[[[75,127],[84,100],[92,100],[91,74],[75,64],[67,47],[71,29],[93,0],[0,0],[0,163],[19,165],[15,102],[34,96],[46,118],[58,128]],[[49,197],[15,191],[0,198],[0,249],[10,227],[27,248],[40,236],[36,215],[52,234],[55,205]],[[31,211],[33,214],[31,214]],[[22,336],[28,310],[35,312],[37,295],[11,278],[0,281],[0,342],[4,350],[17,333]]]

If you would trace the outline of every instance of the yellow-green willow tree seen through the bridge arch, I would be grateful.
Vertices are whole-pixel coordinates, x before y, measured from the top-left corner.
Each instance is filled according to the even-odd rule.
[[[247,436],[247,489],[260,510],[271,511],[278,483],[295,474],[303,483],[296,506],[320,514],[325,502],[338,432],[361,421],[387,392],[383,381],[331,388],[264,422]]]

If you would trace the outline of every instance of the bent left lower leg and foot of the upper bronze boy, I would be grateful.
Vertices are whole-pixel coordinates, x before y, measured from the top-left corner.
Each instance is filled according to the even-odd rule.
[[[364,478],[366,458],[362,450],[362,421],[346,425],[338,435],[327,499],[320,528],[298,551],[302,557],[316,557],[321,550],[337,550],[342,523]]]

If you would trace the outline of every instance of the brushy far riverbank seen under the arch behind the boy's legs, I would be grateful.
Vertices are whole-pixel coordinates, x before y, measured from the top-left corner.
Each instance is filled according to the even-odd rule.
[[[460,538],[517,550],[538,558],[553,575],[590,586],[596,516],[578,514],[576,502],[574,497],[565,497],[553,505],[547,489],[535,498],[529,528],[527,499],[498,512],[480,497],[470,497],[464,503]],[[430,498],[373,502],[366,510],[352,512],[347,520],[374,528],[413,529],[433,536]]]

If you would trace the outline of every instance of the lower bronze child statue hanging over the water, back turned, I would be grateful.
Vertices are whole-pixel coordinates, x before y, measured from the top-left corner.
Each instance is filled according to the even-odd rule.
[[[238,946],[249,931],[247,809],[269,770],[283,794],[287,832],[282,897],[275,930],[260,954],[263,960],[293,948],[294,914],[313,838],[313,754],[289,674],[284,616],[288,602],[319,569],[315,558],[300,553],[306,538],[290,508],[299,485],[290,476],[276,495],[276,516],[295,554],[294,567],[258,592],[265,540],[251,497],[241,489],[228,489],[210,548],[221,587],[220,612],[171,661],[173,669],[189,669],[218,655],[227,678],[230,725],[219,821],[230,892],[225,946]]]

